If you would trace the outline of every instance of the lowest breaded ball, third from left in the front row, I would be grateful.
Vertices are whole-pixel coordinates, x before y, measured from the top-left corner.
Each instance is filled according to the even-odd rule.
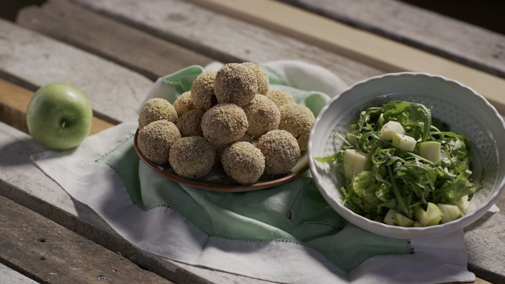
[[[227,147],[221,158],[226,175],[241,184],[256,182],[265,169],[265,157],[260,149],[247,142]]]

